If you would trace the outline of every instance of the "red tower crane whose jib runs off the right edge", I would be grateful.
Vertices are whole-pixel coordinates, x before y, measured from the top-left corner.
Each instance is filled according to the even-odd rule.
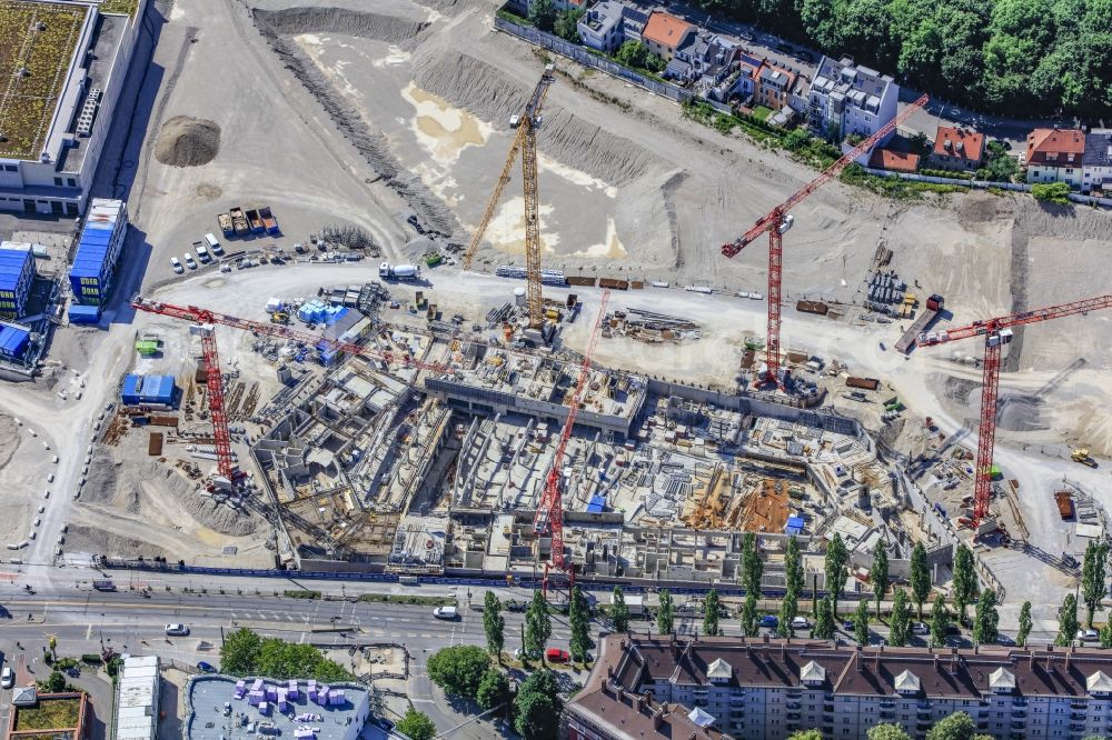
[[[973,531],[989,516],[992,498],[992,451],[996,438],[996,389],[1000,383],[1000,349],[1012,341],[1012,327],[1060,319],[1075,313],[1089,313],[1112,308],[1112,296],[1100,296],[1073,303],[1012,313],[964,327],[920,334],[921,347],[942,344],[969,337],[984,336],[984,384],[981,391],[981,426],[977,432],[975,488],[973,494]]]

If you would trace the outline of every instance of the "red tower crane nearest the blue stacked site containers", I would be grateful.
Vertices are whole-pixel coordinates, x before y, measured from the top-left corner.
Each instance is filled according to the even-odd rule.
[[[210,311],[196,306],[175,306],[173,303],[151,301],[147,300],[139,293],[131,297],[131,308],[139,311],[147,311],[148,313],[157,313],[159,316],[168,316],[173,319],[191,321],[192,323],[200,326],[201,350],[205,356],[206,384],[208,387],[209,394],[209,416],[212,419],[212,438],[216,440],[217,471],[229,480],[232,480],[236,477],[236,469],[231,462],[231,434],[228,432],[228,419],[225,416],[224,410],[224,387],[220,378],[220,357],[217,353],[216,337],[214,334],[214,328],[216,324],[244,329],[245,331],[250,331],[254,334],[291,339],[307,344],[316,344],[317,342],[324,341],[332,349],[347,352],[348,354],[358,354],[360,357],[374,358],[386,362],[400,362],[407,367],[418,368],[421,370],[433,370],[435,372],[448,372],[450,370],[447,364],[437,362],[420,362],[408,353],[395,354],[393,352],[380,352],[378,350],[361,347],[354,342],[331,341],[317,334],[307,331],[299,331],[282,324],[262,323],[261,321],[240,319],[238,317]]]

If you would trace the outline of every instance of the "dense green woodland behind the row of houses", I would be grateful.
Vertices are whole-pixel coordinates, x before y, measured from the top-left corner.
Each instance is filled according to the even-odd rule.
[[[1108,0],[698,0],[997,114],[1112,114]]]

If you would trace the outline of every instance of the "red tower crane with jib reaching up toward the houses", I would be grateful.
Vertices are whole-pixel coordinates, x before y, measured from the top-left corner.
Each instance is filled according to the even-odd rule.
[[[842,154],[837,160],[823,172],[792,193],[787,200],[772,209],[768,213],[757,219],[756,224],[734,241],[722,246],[722,253],[726,257],[734,257],[745,249],[745,246],[768,232],[768,337],[766,344],[767,373],[764,378],[758,378],[757,382],[778,382],[780,372],[780,309],[781,309],[781,273],[783,270],[784,232],[792,228],[793,217],[788,211],[803,201],[815,190],[836,178],[842,170],[850,166],[853,160],[870,151],[874,144],[886,137],[896,127],[903,123],[909,116],[926,104],[930,98],[923,96],[912,104],[904,108],[898,116],[885,123],[876,133],[872,134],[856,147]]]

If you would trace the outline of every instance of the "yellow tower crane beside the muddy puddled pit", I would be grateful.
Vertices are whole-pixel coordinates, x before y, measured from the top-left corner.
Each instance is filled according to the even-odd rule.
[[[529,328],[539,329],[544,323],[544,299],[540,296],[540,194],[537,190],[537,129],[540,128],[540,108],[544,106],[545,96],[548,88],[556,80],[556,67],[547,64],[540,81],[533,90],[533,96],[525,104],[520,114],[509,119],[512,127],[517,127],[517,136],[509,148],[509,156],[502,168],[502,174],[495,184],[490,200],[487,201],[486,210],[479,220],[475,233],[471,236],[471,243],[464,254],[464,269],[471,269],[471,260],[475,258],[475,250],[483,241],[487,226],[494,217],[494,210],[502,199],[502,191],[509,182],[517,152],[522,152],[522,177],[525,188],[525,280],[526,280],[526,307],[529,311]]]

